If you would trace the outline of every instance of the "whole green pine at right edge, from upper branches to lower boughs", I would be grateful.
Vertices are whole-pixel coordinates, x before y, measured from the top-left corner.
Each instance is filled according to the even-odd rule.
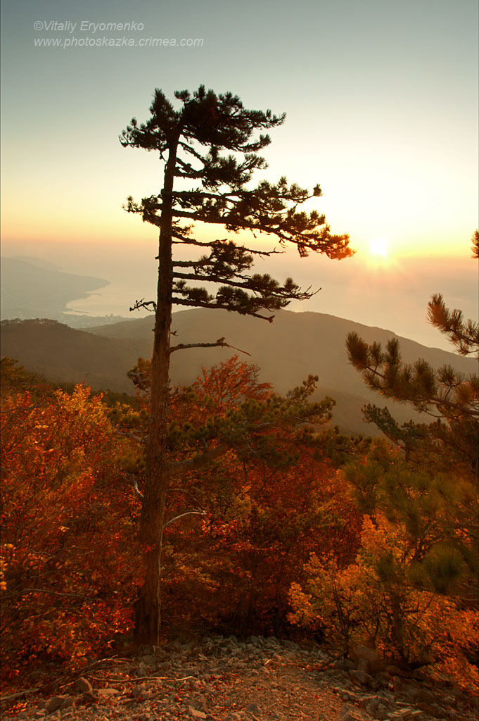
[[[477,239],[477,233],[473,236]],[[479,327],[465,320],[462,311],[449,310],[441,295],[429,301],[429,322],[439,328],[461,355],[479,352]],[[393,472],[377,463],[370,469],[349,470],[359,499],[371,510],[382,495],[382,510],[398,516],[420,550],[422,569],[436,590],[444,591],[468,568],[470,577],[461,588],[463,600],[477,598],[478,588],[478,482],[479,482],[479,378],[452,366],[433,368],[424,359],[403,363],[398,340],[385,350],[367,344],[356,333],[346,339],[349,362],[366,384],[385,397],[408,402],[419,412],[435,417],[433,423],[399,426],[387,408],[367,405],[365,420],[375,423],[396,446],[405,451],[404,465]],[[400,474],[404,476],[401,478]],[[369,504],[369,505],[368,505]],[[437,518],[434,519],[434,516]],[[426,530],[425,530],[426,529]],[[429,549],[424,540],[429,539]],[[418,551],[418,555],[421,555]],[[475,600],[473,600],[475,602]]]

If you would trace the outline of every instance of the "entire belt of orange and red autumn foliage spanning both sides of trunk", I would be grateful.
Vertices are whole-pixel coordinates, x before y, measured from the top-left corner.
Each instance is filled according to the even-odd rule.
[[[146,362],[132,405],[4,370],[1,630],[14,688],[130,639],[149,385]],[[321,431],[331,402],[312,407],[314,426],[297,422],[313,385],[281,399],[235,356],[172,390],[169,460],[228,448],[171,479],[165,635],[313,634],[346,655],[366,642],[477,687],[474,474],[420,469],[418,454],[411,466],[385,441],[366,451],[342,438],[338,462],[338,437]]]

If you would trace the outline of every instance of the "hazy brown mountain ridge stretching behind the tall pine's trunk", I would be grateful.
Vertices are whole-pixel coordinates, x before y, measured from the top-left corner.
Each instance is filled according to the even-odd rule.
[[[153,317],[93,327],[88,332],[53,321],[4,321],[1,353],[53,380],[86,381],[94,389],[131,393],[133,386],[126,373],[140,356],[151,356],[152,329]],[[267,323],[207,309],[174,313],[173,329],[176,340],[182,343],[212,342],[225,337],[230,345],[251,354],[238,353],[245,361],[259,366],[260,381],[272,383],[280,393],[299,385],[309,373],[317,375],[316,397],[330,395],[336,399],[333,420],[343,430],[374,432],[362,420],[360,409],[365,403],[387,404],[400,422],[415,416],[407,405],[385,403],[367,389],[347,361],[345,340],[349,332],[357,332],[367,342],[377,340],[384,345],[397,337],[391,331],[321,313],[280,311],[274,322]],[[424,358],[434,367],[449,363],[465,374],[476,371],[471,358],[426,348],[407,338],[399,340],[403,359],[408,363]],[[203,366],[210,368],[236,353],[230,348],[180,350],[171,357],[171,382],[191,384]]]

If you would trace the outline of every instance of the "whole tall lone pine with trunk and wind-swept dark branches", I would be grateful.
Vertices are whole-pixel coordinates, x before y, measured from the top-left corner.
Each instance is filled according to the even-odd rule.
[[[123,146],[156,151],[164,162],[161,193],[140,203],[128,198],[126,206],[127,211],[139,213],[143,221],[159,229],[157,296],[135,304],[155,312],[151,415],[140,519],[145,583],[135,609],[137,644],[158,643],[160,632],[161,539],[170,477],[166,459],[170,356],[174,350],[194,345],[228,345],[221,338],[207,344],[172,347],[173,304],[226,309],[271,322],[272,316],[261,311],[281,309],[293,298],[312,295],[310,289],[302,291],[291,278],[281,284],[267,274],[249,273],[255,257],[268,257],[274,250],[245,247],[228,238],[200,240],[192,233],[194,224],[220,226],[227,233],[249,230],[254,236],[267,234],[280,247],[295,245],[301,257],[310,251],[336,259],[352,255],[347,235],[331,234],[326,218],[317,211],[297,209],[306,200],[321,196],[319,185],[308,193],[294,183],[288,185],[282,177],[275,185],[263,180],[256,187],[249,186],[254,171],[266,167],[257,153],[270,143],[268,135],[258,136],[257,131],[281,125],[285,115],[246,110],[233,94],[217,95],[203,86],[193,94],[176,92],[175,97],[178,110],[157,89],[151,118],[141,124],[133,118],[120,136]],[[187,189],[187,182],[194,187]],[[173,249],[182,244],[204,249],[207,255],[175,260]],[[211,293],[196,283],[219,284],[219,288]],[[194,462],[203,463],[218,452],[218,448],[208,448]]]

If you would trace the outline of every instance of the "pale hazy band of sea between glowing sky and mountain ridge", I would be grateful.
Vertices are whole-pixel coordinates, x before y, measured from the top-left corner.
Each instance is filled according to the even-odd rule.
[[[69,248],[57,243],[4,244],[4,257],[27,262],[32,257],[50,262],[56,270],[109,280],[110,285],[89,293],[88,298],[71,301],[69,311],[89,316],[119,315],[128,319],[144,317],[130,312],[136,299],[152,299],[156,292],[155,243],[87,244]],[[352,320],[372,327],[392,330],[431,348],[452,350],[442,334],[426,321],[427,303],[433,293],[442,293],[451,308],[465,317],[478,319],[477,261],[465,259],[432,260],[405,258],[393,262],[367,262],[359,255],[341,262],[324,257],[300,259],[287,255],[288,273],[303,287],[321,287],[309,301],[292,301],[287,310],[316,312]],[[261,272],[283,279],[284,258],[261,262]],[[182,310],[175,306],[174,310]],[[214,312],[214,311],[211,311]]]

